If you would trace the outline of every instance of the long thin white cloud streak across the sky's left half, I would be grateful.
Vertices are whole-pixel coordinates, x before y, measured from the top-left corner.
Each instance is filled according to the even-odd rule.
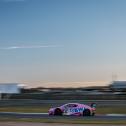
[[[58,47],[62,47],[62,45],[9,46],[9,47],[0,47],[0,50],[58,48]]]

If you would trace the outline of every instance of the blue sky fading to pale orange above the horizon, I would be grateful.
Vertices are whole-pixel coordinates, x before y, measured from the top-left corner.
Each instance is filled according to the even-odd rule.
[[[80,87],[126,80],[126,0],[0,0],[0,82]]]

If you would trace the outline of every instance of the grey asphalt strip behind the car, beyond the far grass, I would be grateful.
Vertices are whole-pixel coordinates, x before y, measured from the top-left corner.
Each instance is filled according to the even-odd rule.
[[[0,100],[1,107],[10,106],[60,106],[66,103],[84,103],[89,104],[94,102],[97,107],[106,106],[126,106],[126,100],[34,100],[34,99],[15,99],[15,100]]]

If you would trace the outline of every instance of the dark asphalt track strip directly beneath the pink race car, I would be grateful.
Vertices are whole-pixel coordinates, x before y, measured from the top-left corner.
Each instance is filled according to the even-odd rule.
[[[0,112],[0,117],[11,117],[11,118],[45,118],[45,119],[95,119],[95,120],[126,120],[126,114],[106,114],[106,115],[95,115],[95,116],[49,116],[48,113],[17,113],[17,112]]]

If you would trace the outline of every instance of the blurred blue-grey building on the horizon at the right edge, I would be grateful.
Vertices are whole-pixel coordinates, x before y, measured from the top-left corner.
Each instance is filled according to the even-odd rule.
[[[126,90],[126,81],[113,81],[109,86],[117,91]]]

